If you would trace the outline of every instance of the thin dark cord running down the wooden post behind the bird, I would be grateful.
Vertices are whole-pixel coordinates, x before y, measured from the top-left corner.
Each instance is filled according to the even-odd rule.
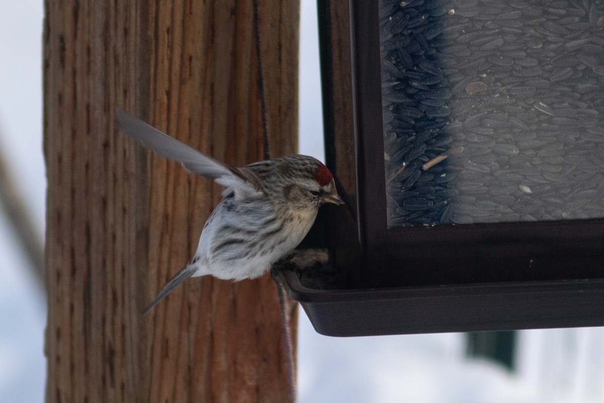
[[[260,57],[260,23],[258,18],[258,0],[252,1],[254,7],[254,35],[256,42],[256,67],[257,67],[257,86],[258,92],[260,95],[260,112],[262,118],[262,135],[263,135],[263,143],[264,143],[264,158],[265,160],[269,160],[271,158],[271,152],[269,150],[268,143],[268,125],[266,123],[266,100],[265,100],[265,89],[264,89],[264,79],[262,74],[262,59]],[[285,289],[281,286],[277,279],[275,279],[275,285],[277,286],[277,294],[279,295],[279,309],[281,311],[281,327],[283,328],[283,344],[285,347],[285,359],[286,366],[288,368],[288,380],[289,380],[289,393],[291,395],[292,403],[297,401],[297,392],[296,392],[296,375],[295,375],[295,366],[294,366],[294,346],[292,345],[292,332],[291,327],[289,326],[289,312],[288,312],[288,303],[287,303],[287,295],[285,293]]]

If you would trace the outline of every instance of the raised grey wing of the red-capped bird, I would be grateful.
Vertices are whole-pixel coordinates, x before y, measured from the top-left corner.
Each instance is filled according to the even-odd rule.
[[[223,195],[233,192],[236,196],[265,193],[262,182],[250,170],[220,163],[121,109],[117,109],[115,116],[120,129],[144,146],[170,160],[179,161],[191,173],[216,179],[225,187]]]

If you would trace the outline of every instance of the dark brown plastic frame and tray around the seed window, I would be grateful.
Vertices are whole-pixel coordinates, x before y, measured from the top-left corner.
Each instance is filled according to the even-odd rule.
[[[326,287],[279,275],[317,332],[604,325],[602,219],[387,227],[377,2],[350,10],[349,42],[348,2],[319,1],[327,164],[347,208],[323,207],[310,242],[329,247],[339,275]]]

